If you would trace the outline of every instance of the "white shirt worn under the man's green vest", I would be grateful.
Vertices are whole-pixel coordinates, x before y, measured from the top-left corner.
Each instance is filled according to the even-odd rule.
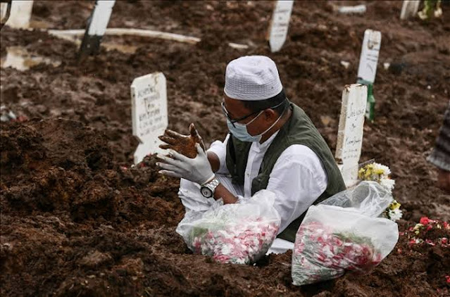
[[[273,134],[263,144],[251,144],[249,158],[245,170],[244,196],[251,196],[251,182],[258,175],[259,168],[268,147],[275,139]],[[220,160],[218,173],[230,174],[227,170],[226,147],[230,134],[225,140],[214,141],[208,151],[215,153]],[[318,156],[301,144],[293,144],[285,149],[270,173],[266,190],[272,191],[275,198],[275,209],[281,217],[280,232],[302,213],[327,189],[327,174]]]

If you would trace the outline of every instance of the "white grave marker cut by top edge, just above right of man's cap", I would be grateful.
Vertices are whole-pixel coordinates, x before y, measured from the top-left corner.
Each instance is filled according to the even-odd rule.
[[[272,52],[280,51],[285,44],[293,4],[294,0],[278,0],[275,4],[269,31],[269,45]]]

